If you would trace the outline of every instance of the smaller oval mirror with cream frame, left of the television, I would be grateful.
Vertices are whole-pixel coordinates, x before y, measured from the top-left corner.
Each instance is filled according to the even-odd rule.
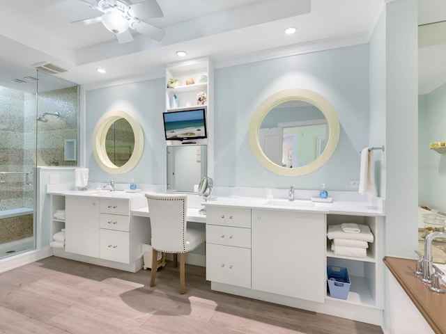
[[[111,136],[111,133],[113,133],[112,130],[116,128],[116,122],[119,124],[121,123],[121,120],[125,120],[126,122],[123,123],[125,125],[128,123],[132,130],[130,132],[126,129],[126,136],[133,136],[133,138],[125,139],[125,141],[128,142],[128,145],[121,145],[122,141],[120,141],[120,143],[114,142],[112,144],[112,150],[115,150],[115,147],[118,147],[118,150],[128,151],[125,153],[126,157],[124,161],[115,164],[114,161],[110,159],[114,154],[112,154],[110,150],[110,138],[107,138],[107,135],[108,137]],[[125,128],[128,128],[128,126],[123,127],[118,131],[123,131]],[[139,159],[141,159],[143,148],[144,135],[141,125],[139,125],[139,122],[133,116],[130,116],[124,111],[109,111],[108,113],[105,113],[105,115],[98,120],[98,123],[93,130],[93,156],[100,168],[107,173],[121,174],[132,170],[132,168],[137,165]]]

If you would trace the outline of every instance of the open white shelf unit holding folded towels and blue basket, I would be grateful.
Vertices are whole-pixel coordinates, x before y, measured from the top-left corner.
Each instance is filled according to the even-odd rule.
[[[374,241],[368,243],[365,257],[337,255],[331,249],[331,240],[327,239],[327,264],[345,267],[351,279],[350,292],[346,300],[334,299],[327,292],[326,299],[341,301],[373,308],[383,308],[383,220],[375,216],[353,216],[344,214],[328,214],[327,227],[342,223],[367,225]]]

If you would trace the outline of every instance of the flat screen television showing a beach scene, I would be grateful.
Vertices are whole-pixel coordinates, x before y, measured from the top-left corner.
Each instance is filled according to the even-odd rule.
[[[206,109],[185,109],[162,113],[167,141],[207,138]]]

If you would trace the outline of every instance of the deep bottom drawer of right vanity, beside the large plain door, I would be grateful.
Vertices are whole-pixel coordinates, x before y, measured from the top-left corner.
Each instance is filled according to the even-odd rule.
[[[251,288],[251,250],[206,244],[206,280]]]

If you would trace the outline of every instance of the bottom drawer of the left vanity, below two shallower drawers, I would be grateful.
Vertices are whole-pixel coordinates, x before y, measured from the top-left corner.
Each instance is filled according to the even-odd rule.
[[[115,262],[130,262],[129,232],[100,230],[100,258]]]

